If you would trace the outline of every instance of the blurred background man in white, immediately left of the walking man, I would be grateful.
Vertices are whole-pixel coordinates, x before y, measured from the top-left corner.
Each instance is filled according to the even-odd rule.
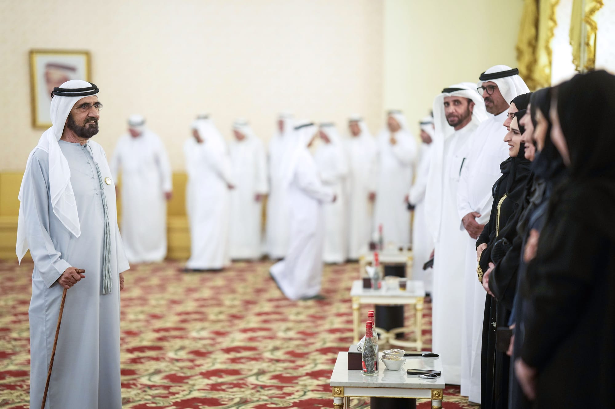
[[[270,259],[284,258],[288,249],[288,192],[282,183],[281,167],[286,144],[292,142],[293,132],[293,117],[283,112],[277,119],[276,134],[269,141],[266,251]]]

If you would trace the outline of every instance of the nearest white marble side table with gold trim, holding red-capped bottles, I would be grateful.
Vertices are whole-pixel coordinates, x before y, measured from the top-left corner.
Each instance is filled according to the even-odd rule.
[[[378,354],[379,359],[382,353]],[[389,371],[381,362],[376,376],[363,376],[360,370],[348,370],[348,353],[341,352],[335,361],[329,385],[333,389],[333,408],[349,408],[351,397],[388,397],[431,399],[432,409],[442,408],[445,387],[444,375],[440,378],[422,379],[407,375],[407,369],[433,369],[442,372],[440,357],[405,357],[402,368]]]

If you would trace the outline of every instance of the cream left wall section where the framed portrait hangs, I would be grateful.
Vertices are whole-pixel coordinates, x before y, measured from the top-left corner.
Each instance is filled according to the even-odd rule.
[[[23,169],[42,133],[30,125],[30,49],[89,50],[105,104],[96,140],[111,155],[141,113],[176,170],[202,111],[228,138],[247,117],[264,140],[280,110],[380,120],[380,0],[19,0],[0,1],[0,15],[0,170]]]

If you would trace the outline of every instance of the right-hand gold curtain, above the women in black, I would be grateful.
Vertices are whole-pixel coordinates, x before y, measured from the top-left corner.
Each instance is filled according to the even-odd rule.
[[[573,12],[570,19],[570,45],[573,46],[573,63],[579,72],[591,71],[595,67],[598,23],[593,17],[604,5],[603,0],[573,1]],[[583,35],[584,30],[585,36]],[[585,48],[585,55],[582,55],[583,48]]]

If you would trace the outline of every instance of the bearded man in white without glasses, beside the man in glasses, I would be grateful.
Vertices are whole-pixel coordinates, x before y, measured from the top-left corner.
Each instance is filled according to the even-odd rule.
[[[462,304],[466,238],[459,230],[459,174],[470,154],[470,139],[486,119],[485,104],[472,83],[451,85],[434,99],[434,142],[425,209],[434,250],[432,349],[440,354],[446,383],[461,383]]]

